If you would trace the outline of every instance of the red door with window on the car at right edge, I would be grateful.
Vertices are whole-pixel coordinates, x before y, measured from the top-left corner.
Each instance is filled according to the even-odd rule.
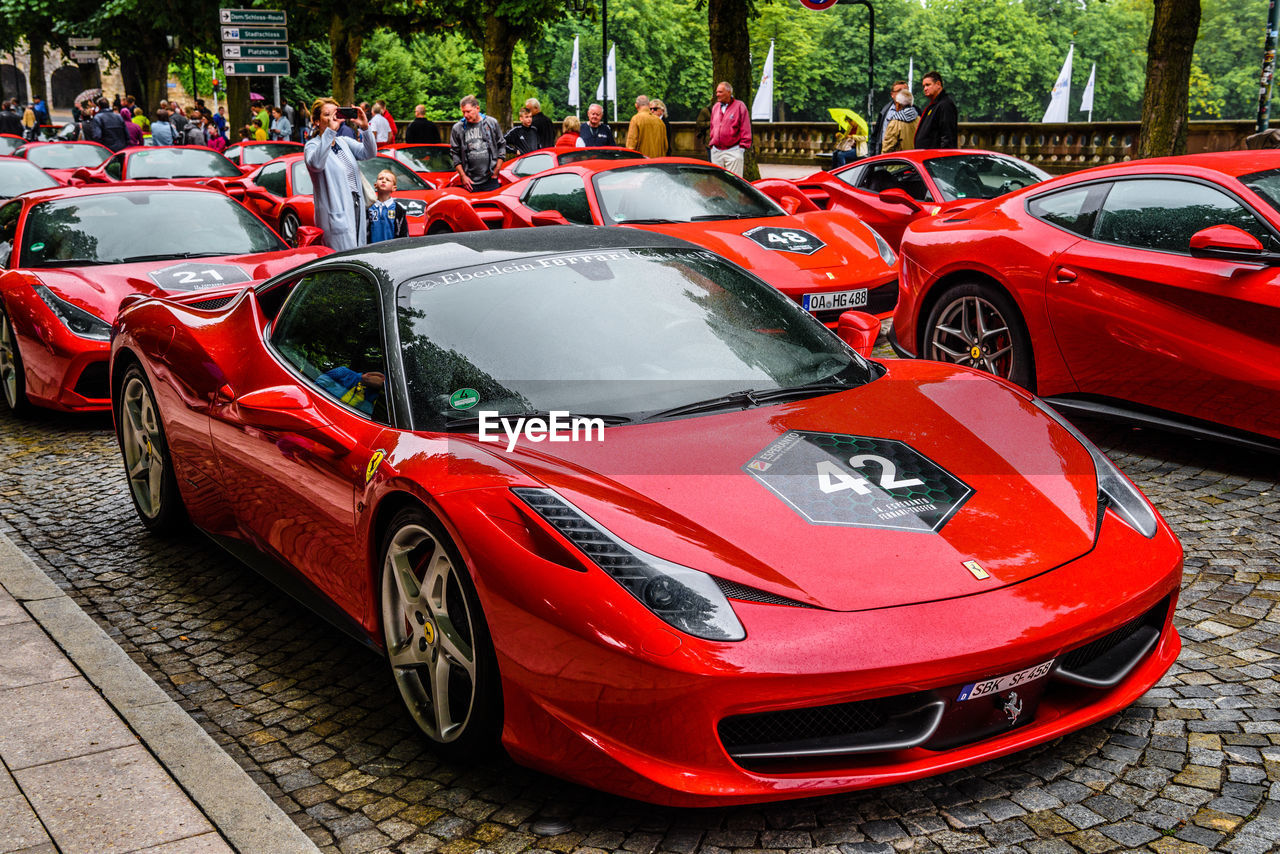
[[[1089,239],[1051,264],[1046,298],[1080,393],[1280,435],[1280,274],[1193,257],[1192,234],[1230,224],[1277,236],[1240,198],[1189,177],[1107,188]]]

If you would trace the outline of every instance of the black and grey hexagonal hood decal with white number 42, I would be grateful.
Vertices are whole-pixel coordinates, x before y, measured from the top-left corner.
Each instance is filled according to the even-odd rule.
[[[790,430],[742,466],[813,525],[937,533],[973,488],[897,439]]]

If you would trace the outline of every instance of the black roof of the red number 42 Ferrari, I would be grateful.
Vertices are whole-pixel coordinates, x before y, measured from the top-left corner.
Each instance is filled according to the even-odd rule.
[[[541,225],[485,232],[411,237],[328,255],[316,264],[355,261],[380,270],[392,283],[477,264],[500,264],[518,257],[557,252],[614,248],[686,248],[694,243],[634,228],[602,225]]]

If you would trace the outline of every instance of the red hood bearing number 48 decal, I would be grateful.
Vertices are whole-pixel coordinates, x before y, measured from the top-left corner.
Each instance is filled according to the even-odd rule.
[[[628,228],[643,228],[698,243],[755,270],[765,279],[768,275],[762,273],[764,270],[786,273],[841,269],[845,271],[842,278],[846,279],[879,279],[892,273],[892,268],[879,256],[870,229],[844,211],[810,211],[788,216],[705,223],[659,223]],[[780,239],[769,241],[771,232],[778,234]],[[822,246],[813,252],[790,251],[782,234],[786,232],[812,236],[820,241]]]

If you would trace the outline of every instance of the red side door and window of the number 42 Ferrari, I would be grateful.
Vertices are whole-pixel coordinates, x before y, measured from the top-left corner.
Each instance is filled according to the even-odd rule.
[[[242,535],[366,622],[356,501],[393,408],[376,280],[358,269],[314,271],[293,286],[266,341],[244,352],[211,419]]]

